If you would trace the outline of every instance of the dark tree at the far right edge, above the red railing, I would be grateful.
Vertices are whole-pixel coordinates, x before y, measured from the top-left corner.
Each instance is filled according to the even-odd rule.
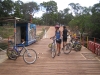
[[[93,36],[100,38],[100,3],[93,6],[91,21],[95,26]]]

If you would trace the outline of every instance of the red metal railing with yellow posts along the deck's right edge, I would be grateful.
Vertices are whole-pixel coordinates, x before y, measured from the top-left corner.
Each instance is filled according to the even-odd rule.
[[[100,56],[100,39],[95,37],[85,36],[81,39],[82,45],[87,47],[90,51]]]

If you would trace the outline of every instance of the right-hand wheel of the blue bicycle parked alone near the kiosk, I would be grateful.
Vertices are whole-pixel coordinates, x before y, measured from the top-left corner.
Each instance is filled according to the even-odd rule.
[[[28,49],[23,54],[23,60],[27,64],[33,64],[36,61],[36,59],[37,59],[37,53],[33,49]]]

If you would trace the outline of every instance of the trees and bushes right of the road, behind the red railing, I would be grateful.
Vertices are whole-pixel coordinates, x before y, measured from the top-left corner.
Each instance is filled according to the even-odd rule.
[[[69,26],[72,30],[75,31],[75,27],[78,26],[78,30],[80,30],[81,33],[88,33],[90,36],[100,38],[100,3],[89,8],[74,3],[69,5],[75,14],[74,18],[69,22]]]

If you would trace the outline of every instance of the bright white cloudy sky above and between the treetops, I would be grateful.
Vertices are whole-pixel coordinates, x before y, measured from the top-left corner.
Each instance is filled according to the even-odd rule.
[[[13,1],[17,1],[17,0],[13,0]],[[21,0],[21,1],[23,1],[24,3],[34,1],[38,4],[40,4],[43,1],[47,2],[50,0]],[[99,2],[99,0],[53,0],[53,1],[57,2],[58,11],[67,8],[68,4],[70,4],[70,3],[79,3],[83,7],[84,6],[89,7],[89,6],[93,6],[94,4]],[[43,13],[44,13],[43,11],[39,11],[34,14],[34,17],[41,17]]]

